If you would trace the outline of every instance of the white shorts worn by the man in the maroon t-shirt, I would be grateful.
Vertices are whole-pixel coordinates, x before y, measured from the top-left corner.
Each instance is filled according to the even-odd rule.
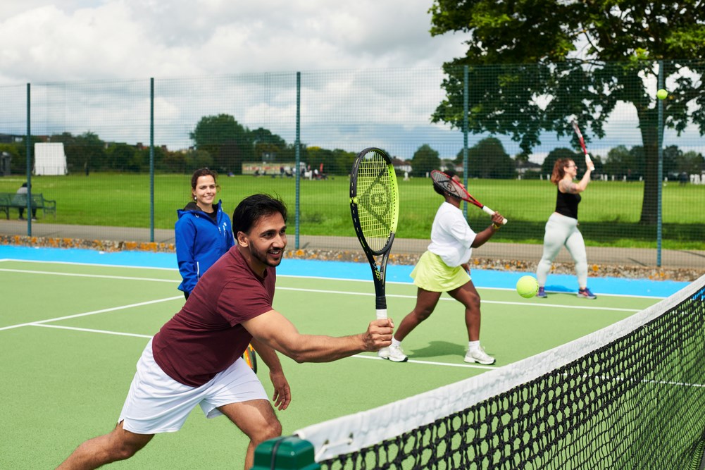
[[[268,398],[262,382],[243,358],[208,383],[189,387],[173,380],[154,362],[150,339],[137,362],[118,423],[122,421],[123,429],[136,434],[174,433],[196,405],[207,418],[215,418],[222,414],[219,406],[255,399]]]

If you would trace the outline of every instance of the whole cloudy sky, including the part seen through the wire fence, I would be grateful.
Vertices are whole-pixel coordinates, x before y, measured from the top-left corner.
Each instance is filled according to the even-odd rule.
[[[464,54],[467,37],[431,37],[431,4],[432,0],[1,0],[0,85],[32,83],[34,108],[42,99],[37,83],[89,83],[85,88],[94,88],[94,95],[86,95],[84,85],[55,87],[61,88],[66,104],[56,114],[48,105],[42,114],[37,105],[40,109],[32,111],[32,120],[36,116],[38,123],[32,130],[44,134],[90,130],[104,140],[136,143],[149,138],[144,80],[153,77],[158,84],[155,143],[173,150],[192,145],[189,132],[202,116],[221,112],[249,128],[268,128],[293,142],[295,91],[290,77],[302,71],[309,74],[301,90],[303,143],[350,151],[376,145],[401,158],[412,157],[420,145],[429,143],[441,157],[453,158],[462,148],[462,135],[446,125],[432,125],[429,117],[444,98],[440,66]],[[425,72],[408,73],[417,69]],[[316,75],[317,71],[321,73]],[[225,78],[261,73],[274,78],[259,75],[248,79],[250,83]],[[288,76],[274,83],[277,73]],[[167,95],[164,84],[172,78],[200,82],[193,89],[188,83],[182,88],[174,85]],[[96,85],[100,80],[128,83],[127,89],[102,90]],[[136,80],[135,85],[129,80]],[[4,95],[0,133],[22,133],[24,92],[15,89],[18,116],[7,116],[11,100]],[[49,92],[47,97],[51,102]],[[374,104],[374,112],[363,108],[368,103]],[[594,142],[593,152],[606,155],[618,143],[639,144],[635,110],[618,109],[608,124],[611,138]],[[482,137],[472,136],[470,146]],[[516,143],[499,137],[510,155],[519,152]],[[555,147],[570,145],[555,135],[541,140],[543,145],[531,157],[534,162],[541,162]]]

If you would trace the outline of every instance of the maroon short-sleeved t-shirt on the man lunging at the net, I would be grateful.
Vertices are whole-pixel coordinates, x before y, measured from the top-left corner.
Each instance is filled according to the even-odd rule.
[[[238,246],[199,279],[179,313],[152,340],[154,361],[173,380],[200,387],[245,352],[252,335],[240,324],[271,311],[276,269],[257,276]]]

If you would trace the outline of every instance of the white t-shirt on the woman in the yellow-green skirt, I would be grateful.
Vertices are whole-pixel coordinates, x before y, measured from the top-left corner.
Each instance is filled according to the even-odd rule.
[[[474,231],[467,224],[462,210],[445,201],[439,207],[431,226],[429,251],[439,255],[450,267],[467,263],[472,255]]]

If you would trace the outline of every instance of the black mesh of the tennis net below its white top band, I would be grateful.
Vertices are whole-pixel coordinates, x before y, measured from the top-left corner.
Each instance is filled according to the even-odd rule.
[[[705,286],[565,366],[326,469],[699,469]]]

